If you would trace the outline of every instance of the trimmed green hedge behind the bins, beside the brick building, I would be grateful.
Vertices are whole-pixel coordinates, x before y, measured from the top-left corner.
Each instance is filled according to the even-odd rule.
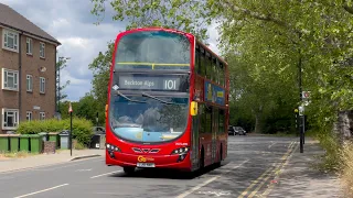
[[[73,139],[83,145],[89,145],[93,135],[93,123],[86,119],[73,118]],[[40,132],[61,132],[69,130],[69,119],[32,120],[21,122],[17,133],[36,134]]]

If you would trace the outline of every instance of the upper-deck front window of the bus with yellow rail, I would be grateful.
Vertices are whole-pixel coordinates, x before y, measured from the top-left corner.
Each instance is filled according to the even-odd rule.
[[[118,41],[116,69],[190,69],[186,36],[165,31],[130,33]]]

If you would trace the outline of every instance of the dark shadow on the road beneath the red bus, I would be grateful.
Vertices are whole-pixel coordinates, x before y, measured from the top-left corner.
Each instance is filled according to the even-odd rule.
[[[180,172],[180,170],[167,169],[167,168],[142,168],[142,169],[138,168],[132,174],[127,175],[125,173],[122,174],[120,173],[120,174],[110,175],[109,177],[194,179],[212,170],[216,170],[228,163],[229,162],[225,161],[225,162],[222,162],[221,166],[212,165],[212,166],[205,167],[202,170],[196,170],[194,173]]]

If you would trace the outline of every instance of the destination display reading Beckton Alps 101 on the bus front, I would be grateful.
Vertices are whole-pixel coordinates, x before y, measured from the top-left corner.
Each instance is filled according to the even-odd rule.
[[[180,90],[181,77],[119,76],[120,89]]]

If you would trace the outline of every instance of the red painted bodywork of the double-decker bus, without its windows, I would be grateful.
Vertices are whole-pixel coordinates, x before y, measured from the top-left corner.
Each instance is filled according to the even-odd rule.
[[[193,142],[193,117],[189,113],[188,117],[188,124],[185,128],[185,132],[167,143],[156,143],[156,144],[143,144],[143,143],[133,143],[129,141],[125,141],[116,136],[111,130],[109,124],[109,103],[110,103],[110,88],[113,86],[113,73],[115,69],[115,54],[117,52],[117,46],[119,41],[122,36],[136,33],[136,32],[145,32],[145,31],[167,31],[171,33],[183,34],[188,37],[191,45],[191,63],[190,63],[190,102],[195,101],[195,95],[197,92],[200,103],[208,103],[214,107],[223,108],[224,109],[224,131],[218,132],[217,134],[214,133],[204,133],[199,135],[199,145]],[[195,64],[195,45],[203,47],[206,52],[208,52],[212,56],[216,57],[220,62],[224,64],[224,76],[225,76],[225,86],[221,86],[224,92],[224,106],[218,106],[215,103],[203,101],[204,98],[204,85],[205,81],[208,81],[215,85],[214,81],[206,79],[205,77],[196,74],[194,72],[194,64]],[[174,168],[185,172],[193,172],[200,168],[201,161],[203,160],[203,165],[207,166],[214,163],[221,163],[227,156],[227,123],[228,123],[228,90],[229,88],[229,80],[228,80],[228,70],[227,64],[220,58],[216,54],[214,54],[211,50],[208,50],[205,45],[201,42],[195,40],[195,36],[190,33],[184,33],[175,30],[167,30],[162,28],[146,28],[146,29],[136,29],[122,32],[117,35],[115,41],[115,48],[113,55],[113,63],[110,67],[110,79],[109,79],[109,89],[108,89],[108,101],[106,106],[106,144],[109,144],[110,148],[106,147],[106,164],[118,165],[121,167],[137,167],[137,163],[145,162],[145,163],[154,163],[156,168]],[[212,119],[213,120],[213,119]],[[214,120],[212,121],[214,122]],[[200,122],[197,122],[200,124]],[[217,128],[217,124],[212,124],[212,128]],[[212,140],[216,140],[216,146],[212,147]],[[194,146],[196,145],[196,146]],[[111,148],[111,146],[114,146]],[[116,148],[118,147],[118,148]],[[181,160],[180,155],[172,154],[174,150],[188,147],[188,152],[183,155]],[[196,147],[197,151],[195,151]]]

